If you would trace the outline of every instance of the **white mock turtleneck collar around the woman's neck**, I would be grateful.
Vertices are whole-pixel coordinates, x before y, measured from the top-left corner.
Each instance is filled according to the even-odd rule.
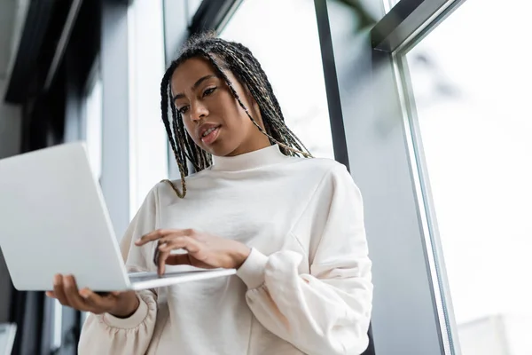
[[[286,155],[282,154],[278,145],[267,146],[253,152],[235,156],[213,155],[213,171],[239,171],[250,170],[283,162]]]

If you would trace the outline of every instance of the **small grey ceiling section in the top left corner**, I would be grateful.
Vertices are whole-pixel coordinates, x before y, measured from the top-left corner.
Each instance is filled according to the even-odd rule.
[[[18,48],[30,0],[0,0],[0,80],[6,79]]]

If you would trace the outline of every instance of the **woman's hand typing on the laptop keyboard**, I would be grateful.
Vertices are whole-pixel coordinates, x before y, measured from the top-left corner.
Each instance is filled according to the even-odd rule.
[[[192,229],[159,229],[145,234],[135,244],[140,247],[150,241],[158,241],[159,244],[155,262],[160,275],[164,273],[166,264],[189,264],[205,269],[238,269],[251,252],[250,248],[239,241]],[[187,253],[170,254],[172,250],[180,248],[185,249]]]

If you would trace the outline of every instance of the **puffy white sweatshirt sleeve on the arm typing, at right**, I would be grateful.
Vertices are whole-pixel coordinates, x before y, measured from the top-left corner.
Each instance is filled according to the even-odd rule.
[[[372,263],[361,194],[345,167],[325,174],[289,233],[309,250],[270,256],[253,248],[238,275],[246,301],[270,332],[307,354],[360,354],[368,345]]]

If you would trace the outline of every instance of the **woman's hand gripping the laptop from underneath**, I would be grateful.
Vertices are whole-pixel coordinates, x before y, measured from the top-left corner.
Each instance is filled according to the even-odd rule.
[[[110,313],[119,318],[128,318],[137,311],[139,305],[135,291],[110,292],[106,296],[99,296],[89,288],[78,290],[72,275],[55,275],[53,291],[47,291],[46,296],[57,298],[60,304],[78,311]]]

